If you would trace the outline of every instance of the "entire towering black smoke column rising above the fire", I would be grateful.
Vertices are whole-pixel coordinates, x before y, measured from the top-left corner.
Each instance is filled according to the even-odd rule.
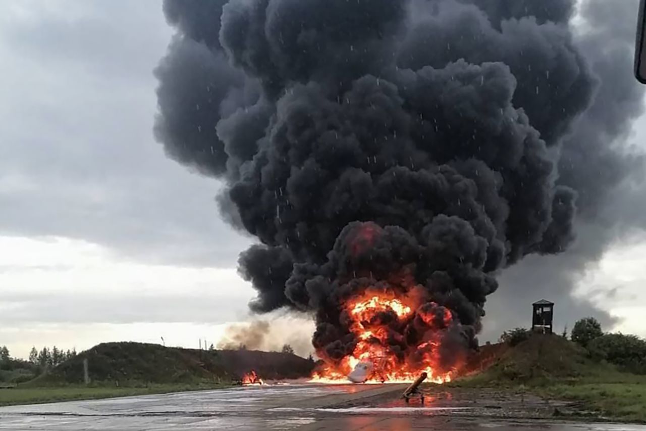
[[[642,94],[607,82],[626,43],[600,4],[575,38],[569,0],[165,0],[156,137],[262,244],[240,256],[254,311],[313,312],[338,357],[340,302],[406,274],[474,342],[495,275],[567,250],[640,166],[610,145]]]

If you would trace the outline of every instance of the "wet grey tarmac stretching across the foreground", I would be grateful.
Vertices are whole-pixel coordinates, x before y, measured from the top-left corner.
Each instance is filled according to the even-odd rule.
[[[394,385],[262,386],[0,408],[0,430],[646,431],[646,426],[508,420],[461,404],[382,404]],[[360,401],[361,406],[352,407]],[[348,407],[349,406],[349,407]]]

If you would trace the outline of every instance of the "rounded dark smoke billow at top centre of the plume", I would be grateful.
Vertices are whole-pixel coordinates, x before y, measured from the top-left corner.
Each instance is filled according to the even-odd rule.
[[[406,1],[230,1],[221,40],[234,65],[279,96],[295,82],[342,86],[391,63]]]

